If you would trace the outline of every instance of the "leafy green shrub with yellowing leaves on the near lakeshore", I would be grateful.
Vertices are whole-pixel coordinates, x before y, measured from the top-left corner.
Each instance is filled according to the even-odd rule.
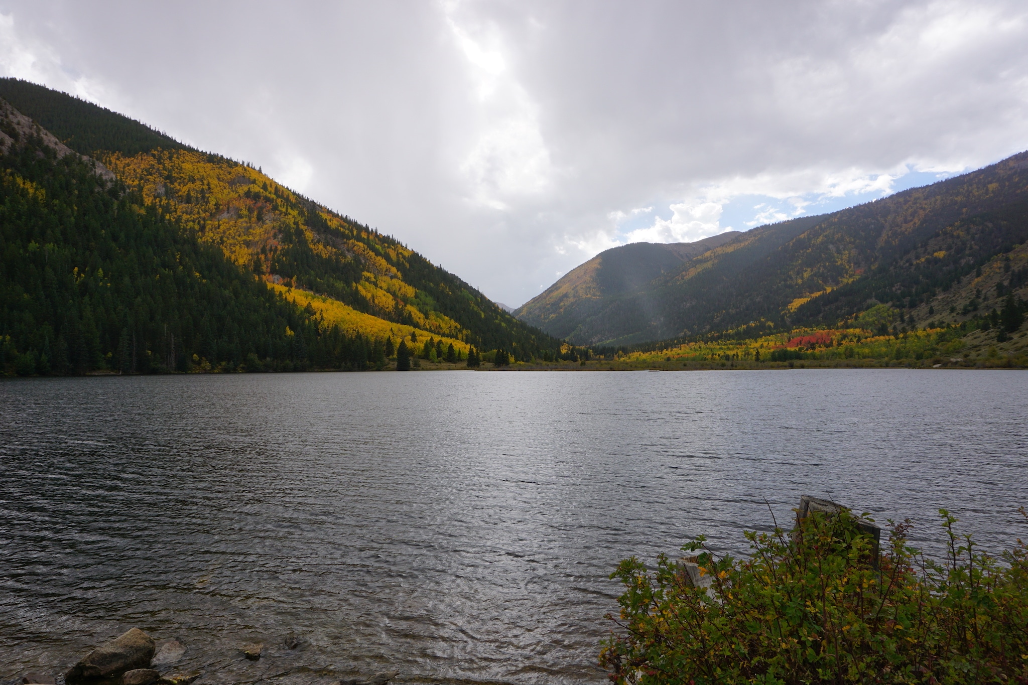
[[[620,630],[600,662],[633,685],[1028,683],[1028,548],[980,553],[940,512],[945,564],[908,546],[909,521],[889,522],[876,564],[845,510],[747,532],[745,560],[717,558],[702,537],[683,547],[696,557],[662,555],[653,572],[624,560],[611,576],[625,585],[620,618],[608,616]]]

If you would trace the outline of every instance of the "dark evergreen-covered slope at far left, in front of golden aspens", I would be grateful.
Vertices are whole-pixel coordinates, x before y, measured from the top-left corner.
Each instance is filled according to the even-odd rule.
[[[0,373],[307,364],[308,312],[21,122],[0,102]]]

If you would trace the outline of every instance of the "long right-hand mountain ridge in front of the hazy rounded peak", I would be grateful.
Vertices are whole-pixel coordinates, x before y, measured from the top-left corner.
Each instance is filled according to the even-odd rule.
[[[630,293],[572,298],[563,307],[578,315],[564,317],[560,326],[533,318],[525,310],[519,314],[551,334],[567,335],[576,344],[616,345],[758,324],[829,326],[866,308],[860,298],[847,293],[896,305],[902,301],[905,308],[921,311],[917,306],[935,297],[932,293],[946,282],[946,274],[965,268],[967,260],[985,264],[995,251],[1007,250],[983,237],[992,252],[979,251],[975,237],[984,229],[968,229],[977,233],[965,236],[964,262],[929,274],[914,269],[916,260],[923,264],[925,259],[923,245],[958,222],[1019,205],[1026,198],[1028,152],[1022,152],[873,202],[751,229],[683,262],[681,268],[662,271]],[[1024,240],[1019,229],[1012,231],[1011,240]],[[865,292],[890,265],[901,263],[908,265],[906,275],[893,270],[892,282]],[[908,282],[912,271],[917,271],[916,283]],[[822,306],[844,296],[844,308]]]

